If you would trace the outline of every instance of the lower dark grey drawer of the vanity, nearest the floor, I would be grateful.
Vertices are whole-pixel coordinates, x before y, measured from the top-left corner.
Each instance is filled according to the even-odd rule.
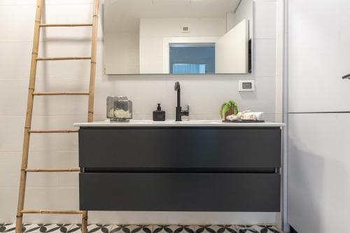
[[[80,210],[279,212],[280,174],[80,173]]]

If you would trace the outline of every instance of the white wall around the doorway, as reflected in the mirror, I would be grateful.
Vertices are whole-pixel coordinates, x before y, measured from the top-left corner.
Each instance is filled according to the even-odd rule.
[[[190,27],[190,32],[181,32],[183,26]],[[204,38],[223,34],[225,34],[225,17],[141,18],[140,71],[141,73],[164,73],[163,38],[165,37]]]

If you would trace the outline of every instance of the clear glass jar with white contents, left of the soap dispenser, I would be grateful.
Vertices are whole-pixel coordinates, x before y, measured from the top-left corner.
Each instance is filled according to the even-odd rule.
[[[132,101],[125,96],[107,97],[107,118],[111,121],[130,121],[132,119]]]

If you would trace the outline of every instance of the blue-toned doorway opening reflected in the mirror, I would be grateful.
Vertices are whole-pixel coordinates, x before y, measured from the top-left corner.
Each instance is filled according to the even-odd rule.
[[[169,73],[215,73],[215,43],[171,43]]]

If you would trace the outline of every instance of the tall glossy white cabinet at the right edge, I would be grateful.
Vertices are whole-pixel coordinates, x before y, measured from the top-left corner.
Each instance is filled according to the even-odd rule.
[[[350,0],[288,1],[288,224],[350,232]]]

